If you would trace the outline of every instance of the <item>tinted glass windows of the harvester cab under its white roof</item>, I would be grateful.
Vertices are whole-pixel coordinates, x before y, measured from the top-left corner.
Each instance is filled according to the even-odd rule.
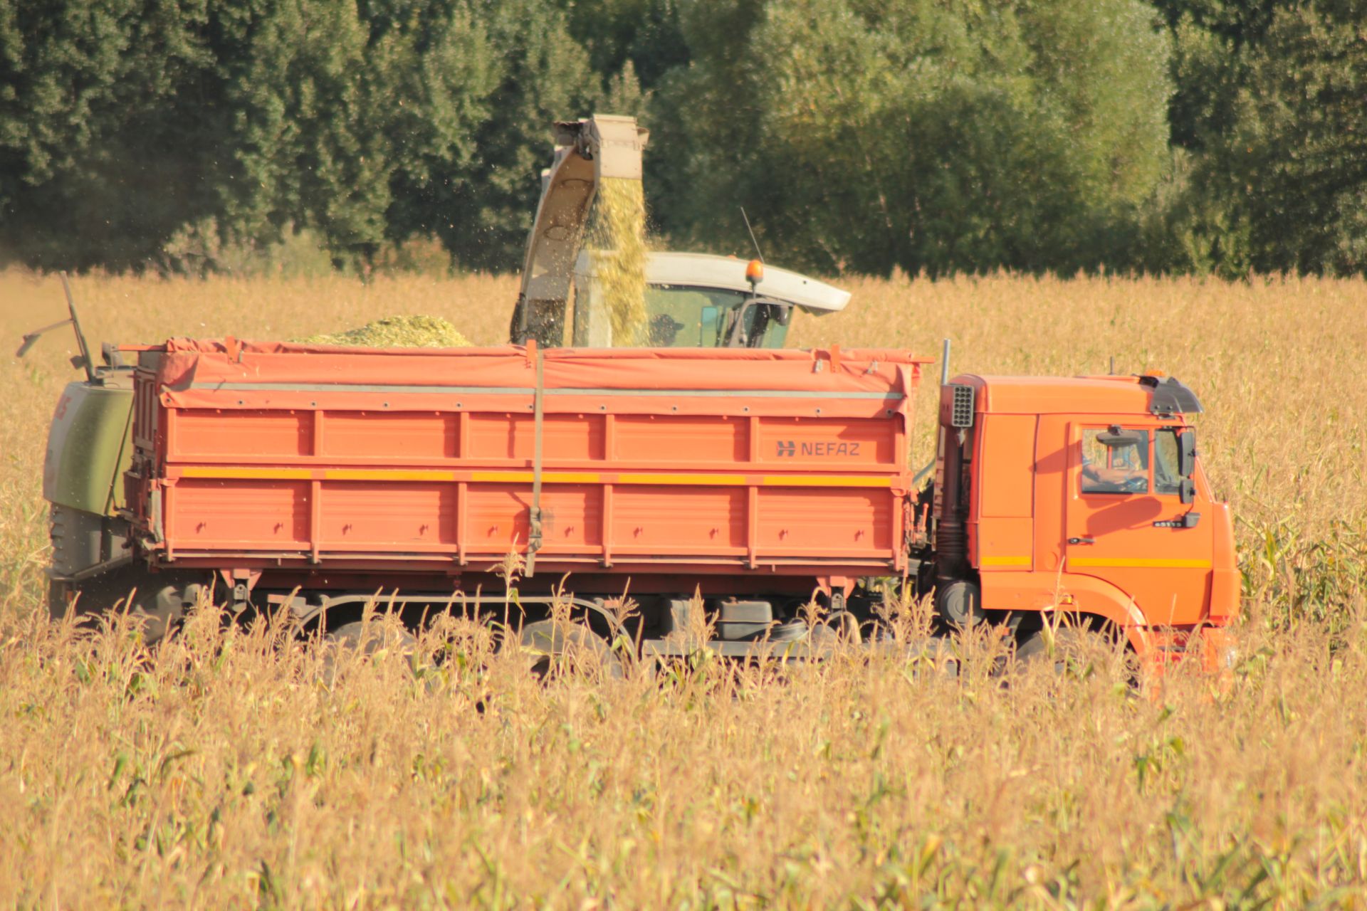
[[[652,348],[726,347],[729,326],[748,296],[740,291],[652,285],[645,291],[647,344]],[[771,310],[768,305],[745,309],[749,347],[783,347],[787,325],[771,318]]]

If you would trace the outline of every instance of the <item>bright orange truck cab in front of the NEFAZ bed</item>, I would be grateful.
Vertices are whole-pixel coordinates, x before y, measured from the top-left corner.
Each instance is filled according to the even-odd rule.
[[[1172,377],[988,377],[942,388],[934,564],[940,612],[1051,611],[1180,649],[1239,613],[1229,505]]]

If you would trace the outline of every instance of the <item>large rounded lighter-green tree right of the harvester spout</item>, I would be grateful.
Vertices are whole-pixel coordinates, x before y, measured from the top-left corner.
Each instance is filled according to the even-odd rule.
[[[1166,161],[1155,26],[1133,0],[690,7],[662,208],[740,239],[740,202],[822,269],[1128,265]]]

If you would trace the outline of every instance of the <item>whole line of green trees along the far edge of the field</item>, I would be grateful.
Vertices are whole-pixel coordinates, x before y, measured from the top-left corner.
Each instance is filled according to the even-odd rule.
[[[1360,273],[1367,0],[0,0],[0,262],[299,231],[511,270],[552,120],[677,249],[823,273]]]

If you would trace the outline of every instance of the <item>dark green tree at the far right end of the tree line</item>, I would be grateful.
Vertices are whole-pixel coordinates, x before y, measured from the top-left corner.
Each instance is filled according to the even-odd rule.
[[[1166,8],[1173,142],[1189,152],[1172,234],[1228,276],[1367,269],[1367,4]]]

